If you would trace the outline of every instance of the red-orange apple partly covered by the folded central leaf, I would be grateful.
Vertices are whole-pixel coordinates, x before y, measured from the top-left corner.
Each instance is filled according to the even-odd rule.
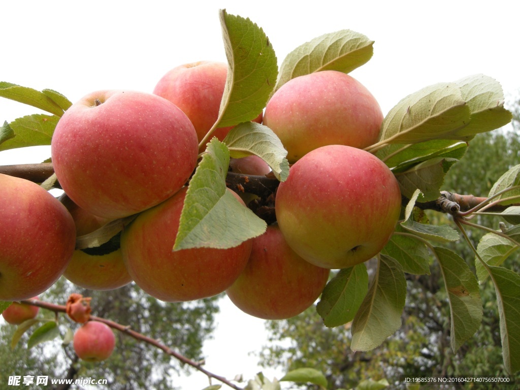
[[[230,249],[172,251],[186,190],[139,214],[121,235],[128,273],[142,290],[167,302],[197,300],[225,291],[251,253],[251,240]]]

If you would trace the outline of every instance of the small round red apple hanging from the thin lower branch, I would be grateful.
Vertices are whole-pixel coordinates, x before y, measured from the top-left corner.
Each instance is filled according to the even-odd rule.
[[[74,332],[74,351],[86,361],[102,361],[112,355],[115,346],[114,332],[99,321],[88,321]]]

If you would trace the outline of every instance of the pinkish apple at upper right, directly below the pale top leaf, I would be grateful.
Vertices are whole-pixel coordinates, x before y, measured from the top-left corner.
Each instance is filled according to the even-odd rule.
[[[290,163],[325,145],[373,145],[382,122],[379,103],[369,90],[337,71],[288,81],[271,97],[264,114],[264,125],[280,138]]]

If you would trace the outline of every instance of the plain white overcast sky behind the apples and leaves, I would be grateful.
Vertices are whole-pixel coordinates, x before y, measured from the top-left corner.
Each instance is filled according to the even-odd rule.
[[[226,61],[220,8],[260,25],[279,63],[324,33],[351,29],[367,35],[375,41],[374,56],[352,75],[379,100],[384,114],[422,87],[475,73],[497,79],[506,98],[520,90],[516,0],[1,2],[0,81],[55,89],[73,102],[97,89],[151,92],[179,64]],[[0,100],[1,121],[35,112]],[[40,162],[48,154],[47,149],[0,152],[0,164]],[[252,378],[260,369],[247,354],[265,343],[263,321],[228,301],[222,313],[215,340],[206,345],[206,368],[228,378],[237,373]],[[207,385],[199,374],[183,383],[184,389]]]

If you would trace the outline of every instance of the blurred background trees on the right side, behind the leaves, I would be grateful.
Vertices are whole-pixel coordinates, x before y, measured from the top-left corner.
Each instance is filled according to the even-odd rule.
[[[513,129],[503,128],[475,136],[469,142],[464,158],[446,175],[443,189],[486,196],[495,181],[520,162],[519,101],[513,103],[512,112]],[[443,214],[427,214],[437,225],[449,223]],[[497,217],[478,218],[481,218],[479,224],[499,228]],[[484,233],[469,229],[475,245]],[[475,269],[475,255],[466,242],[460,240],[449,246]],[[433,261],[431,264],[431,275],[407,275],[407,304],[402,315],[402,327],[380,347],[370,352],[352,352],[350,324],[325,328],[316,308],[311,307],[288,320],[267,321],[270,344],[260,354],[261,364],[285,370],[314,367],[326,373],[331,389],[352,388],[363,379],[386,379],[392,384],[399,380],[400,375],[507,375],[500,347],[496,293],[489,278],[480,286],[484,306],[482,325],[474,337],[453,354],[447,294],[439,268]],[[518,272],[518,255],[510,257],[506,266]],[[515,378],[520,381],[518,373]],[[494,386],[492,388],[501,388]],[[504,389],[509,387],[503,386]],[[301,388],[318,387],[307,384]]]

